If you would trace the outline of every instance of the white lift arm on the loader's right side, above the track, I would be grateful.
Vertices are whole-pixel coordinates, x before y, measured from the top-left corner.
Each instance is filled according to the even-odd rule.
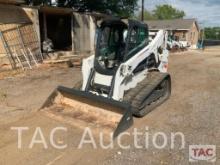
[[[160,63],[158,69],[161,72],[167,71],[168,64],[168,51],[166,49],[166,41],[167,41],[167,32],[160,30],[154,40],[149,43],[145,48],[143,48],[140,52],[134,55],[125,63],[122,63],[118,68],[118,71],[115,76],[115,84],[114,84],[114,92],[113,99],[122,100],[124,96],[124,92],[129,90],[130,88],[134,88],[137,83],[141,82],[148,72],[148,68],[146,68],[143,72],[133,75],[134,70],[138,67],[138,65],[144,61],[150,55],[154,55],[156,62]],[[162,52],[159,52],[159,49],[162,49]],[[130,83],[123,83],[126,78],[133,77],[130,80]]]

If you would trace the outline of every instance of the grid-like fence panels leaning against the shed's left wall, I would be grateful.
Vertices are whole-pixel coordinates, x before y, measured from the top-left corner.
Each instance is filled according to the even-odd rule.
[[[32,69],[43,61],[39,39],[32,24],[2,30],[0,37],[13,69]]]

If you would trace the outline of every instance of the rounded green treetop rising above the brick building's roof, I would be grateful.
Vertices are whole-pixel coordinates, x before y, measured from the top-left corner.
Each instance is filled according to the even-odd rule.
[[[175,9],[171,5],[158,5],[153,11],[154,17],[159,20],[183,18],[185,12]]]

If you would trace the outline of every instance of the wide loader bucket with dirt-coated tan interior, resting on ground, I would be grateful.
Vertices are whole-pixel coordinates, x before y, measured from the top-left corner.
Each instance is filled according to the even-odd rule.
[[[41,109],[71,118],[80,128],[91,126],[103,133],[113,132],[113,138],[133,124],[128,103],[63,86],[48,97]]]

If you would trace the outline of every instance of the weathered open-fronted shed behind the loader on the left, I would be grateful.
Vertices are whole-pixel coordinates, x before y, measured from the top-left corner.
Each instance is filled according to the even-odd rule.
[[[40,54],[43,60],[45,56],[41,52],[45,54],[48,52],[43,49],[43,43],[47,43],[45,41],[48,40],[52,43],[52,54],[71,56],[93,54],[97,21],[111,17],[96,12],[77,12],[72,8],[53,6],[0,4],[0,9],[0,20],[2,20],[0,21],[2,34],[0,57],[6,59],[5,55],[8,55],[7,59],[12,67],[16,67],[19,63],[14,55],[20,50],[22,50],[20,55],[27,56],[29,50],[31,52],[33,49],[37,50],[35,54]],[[9,17],[11,11],[16,14]],[[10,38],[13,38],[11,36],[15,36],[16,41],[11,41]],[[17,43],[22,44],[15,49]],[[33,46],[35,47],[32,48]]]

